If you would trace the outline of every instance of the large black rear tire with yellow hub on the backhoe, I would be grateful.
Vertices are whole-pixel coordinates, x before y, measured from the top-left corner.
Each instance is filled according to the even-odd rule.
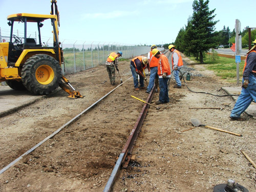
[[[59,62],[46,54],[28,58],[22,68],[22,81],[31,93],[47,95],[59,87],[61,82]]]

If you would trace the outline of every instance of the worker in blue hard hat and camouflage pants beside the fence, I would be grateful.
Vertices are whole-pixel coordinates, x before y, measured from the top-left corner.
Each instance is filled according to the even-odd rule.
[[[110,78],[110,83],[112,86],[115,86],[117,83],[115,82],[116,80],[116,70],[119,71],[118,69],[118,61],[119,57],[122,56],[122,52],[112,52],[108,55],[108,58],[106,59],[105,65],[106,65],[106,71],[108,71],[109,78]],[[116,68],[116,70],[115,70]]]

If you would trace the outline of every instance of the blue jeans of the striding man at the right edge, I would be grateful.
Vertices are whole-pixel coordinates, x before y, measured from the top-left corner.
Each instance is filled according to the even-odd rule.
[[[236,104],[234,104],[230,117],[239,118],[248,108],[252,100],[256,101],[256,77],[250,74],[248,87],[246,89],[242,88],[241,94],[239,95]]]

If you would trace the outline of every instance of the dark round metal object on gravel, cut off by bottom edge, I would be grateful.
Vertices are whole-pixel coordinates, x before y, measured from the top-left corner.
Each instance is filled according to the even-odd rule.
[[[234,191],[249,192],[247,188],[234,182],[234,180],[232,179],[227,180],[227,184],[219,184],[214,186],[214,192],[234,192]]]

